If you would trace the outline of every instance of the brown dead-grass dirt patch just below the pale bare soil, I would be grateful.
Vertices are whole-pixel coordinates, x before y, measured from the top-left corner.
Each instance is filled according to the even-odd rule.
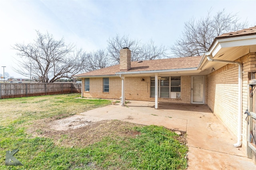
[[[54,139],[54,143],[59,146],[86,147],[101,141],[104,137],[112,139],[116,137],[135,137],[140,133],[133,130],[133,127],[143,126],[118,120],[100,120],[93,123],[89,122],[88,125],[83,125],[82,127],[74,128],[74,126],[70,126],[70,128],[66,128],[63,126],[58,127],[58,130],[56,130],[52,128],[53,126],[49,126],[50,122],[52,121],[44,119],[41,123],[31,126],[33,128],[28,128],[27,132],[32,134],[33,137],[49,137]],[[74,125],[76,126],[76,123]]]

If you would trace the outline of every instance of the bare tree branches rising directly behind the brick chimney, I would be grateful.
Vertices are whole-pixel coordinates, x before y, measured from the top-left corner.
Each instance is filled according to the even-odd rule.
[[[120,49],[128,47],[131,50],[131,60],[154,60],[166,57],[166,47],[156,46],[154,41],[150,39],[147,43],[143,44],[138,40],[130,39],[128,35],[120,37],[118,34],[116,37],[108,39],[108,53],[113,64],[120,63]]]

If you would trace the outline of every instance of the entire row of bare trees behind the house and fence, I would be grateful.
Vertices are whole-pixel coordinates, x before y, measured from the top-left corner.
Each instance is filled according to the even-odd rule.
[[[48,32],[36,31],[32,43],[13,46],[19,63],[14,70],[27,77],[31,73],[33,80],[38,82],[71,81],[75,74],[119,64],[123,47],[131,50],[132,61],[198,56],[208,50],[214,37],[247,26],[247,22],[239,22],[237,14],[226,14],[224,10],[215,16],[210,13],[199,20],[192,18],[186,22],[182,36],[169,48],[155,45],[152,39],[142,43],[128,35],[117,34],[107,40],[106,49],[86,52],[73,44],[66,44],[64,38],[56,40]],[[168,51],[172,53],[168,54]]]

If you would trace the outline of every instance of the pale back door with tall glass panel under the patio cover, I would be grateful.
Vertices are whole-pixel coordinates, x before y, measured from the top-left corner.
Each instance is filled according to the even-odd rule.
[[[204,76],[192,76],[191,103],[204,104]]]

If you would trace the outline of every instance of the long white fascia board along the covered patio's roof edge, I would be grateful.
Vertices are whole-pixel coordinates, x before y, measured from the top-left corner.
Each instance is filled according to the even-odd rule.
[[[172,69],[172,70],[152,70],[152,71],[133,71],[133,72],[116,72],[118,75],[126,74],[152,74],[152,73],[166,73],[166,72],[184,72],[184,71],[196,71],[195,68],[181,68],[181,69]]]

